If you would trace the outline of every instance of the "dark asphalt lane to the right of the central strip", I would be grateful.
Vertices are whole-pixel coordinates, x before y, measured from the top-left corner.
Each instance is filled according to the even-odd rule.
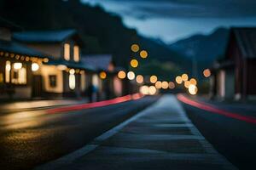
[[[231,163],[239,169],[256,167],[256,125],[252,122],[236,119],[237,116],[224,116],[205,111],[193,105],[183,106],[205,138]],[[224,111],[232,111],[238,116],[255,118],[254,110],[242,109],[235,105],[214,105]],[[242,105],[243,106],[243,105]],[[235,117],[235,118],[234,118]]]

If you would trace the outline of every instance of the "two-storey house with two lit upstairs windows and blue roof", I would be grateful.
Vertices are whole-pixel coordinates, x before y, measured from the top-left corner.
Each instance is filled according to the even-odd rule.
[[[53,58],[34,71],[35,82],[38,86],[42,84],[42,88],[35,90],[35,95],[79,97],[84,94],[86,76],[93,72],[93,68],[80,61],[83,43],[77,31],[21,31],[15,32],[13,37],[15,41]]]

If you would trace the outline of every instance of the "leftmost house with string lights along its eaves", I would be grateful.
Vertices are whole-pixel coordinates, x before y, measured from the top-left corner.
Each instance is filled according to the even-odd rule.
[[[49,61],[47,54],[13,41],[13,31],[20,30],[8,20],[0,20],[0,99],[30,99],[35,83],[32,71]]]

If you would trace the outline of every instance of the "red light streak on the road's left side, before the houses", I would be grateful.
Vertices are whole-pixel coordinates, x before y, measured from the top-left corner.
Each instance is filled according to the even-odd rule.
[[[54,113],[67,112],[67,111],[79,111],[79,110],[84,110],[84,109],[119,104],[119,103],[123,103],[125,101],[136,100],[136,99],[141,99],[141,98],[143,98],[143,94],[129,94],[129,95],[125,95],[125,96],[122,96],[119,98],[108,99],[108,100],[89,103],[89,104],[79,104],[79,105],[58,107],[58,108],[46,110],[46,112],[49,114],[54,114]]]

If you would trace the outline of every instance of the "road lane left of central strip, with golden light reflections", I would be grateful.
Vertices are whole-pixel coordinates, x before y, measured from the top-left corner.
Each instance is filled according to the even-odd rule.
[[[135,115],[158,97],[116,105],[49,114],[21,111],[0,116],[1,169],[31,169],[78,150]]]

